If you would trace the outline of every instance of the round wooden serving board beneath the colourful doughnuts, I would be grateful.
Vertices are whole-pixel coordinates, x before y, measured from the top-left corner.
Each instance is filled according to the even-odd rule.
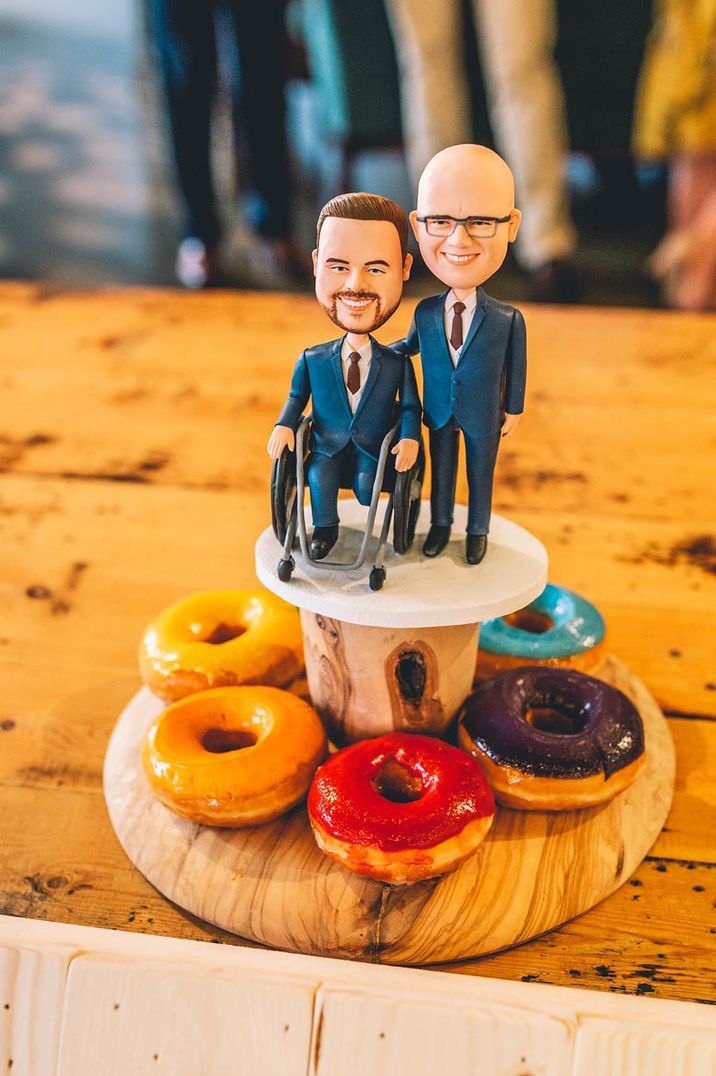
[[[319,851],[305,805],[277,822],[214,830],[151,794],[142,737],[163,709],[142,689],[107,751],[104,794],[127,855],[169,900],[242,937],[296,952],[432,964],[527,942],[587,911],[634,872],[659,834],[674,787],[671,734],[657,703],[617,659],[600,674],[640,709],[646,765],[602,807],[547,813],[497,808],[477,853],[453,874],[391,887]]]

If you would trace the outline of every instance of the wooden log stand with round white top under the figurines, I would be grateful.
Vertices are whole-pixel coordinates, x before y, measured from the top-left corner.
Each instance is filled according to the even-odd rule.
[[[365,510],[340,502],[335,560],[352,561]],[[423,504],[413,549],[387,550],[384,589],[368,586],[370,564],[352,572],[306,568],[297,558],[282,583],[281,556],[270,530],[256,543],[256,575],[300,608],[311,699],[337,745],[394,730],[439,735],[469,694],[479,624],[521,609],[547,581],[544,546],[522,527],[493,516],[479,565],[464,558],[466,510],[455,508],[453,539],[437,558],[420,547],[429,525]]]

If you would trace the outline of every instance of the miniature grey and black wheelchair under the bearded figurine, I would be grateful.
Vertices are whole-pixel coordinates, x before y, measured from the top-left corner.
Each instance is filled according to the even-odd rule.
[[[296,535],[301,560],[311,568],[353,571],[362,567],[366,560],[368,544],[374,537],[373,529],[380,494],[384,492],[389,494],[389,498],[375,550],[374,564],[368,577],[370,590],[379,591],[385,582],[383,553],[391,520],[393,521],[393,549],[395,552],[407,553],[412,546],[425,473],[425,451],[422,441],[413,466],[406,471],[396,471],[393,457],[389,455],[398,435],[399,423],[395,423],[383,438],[380,447],[365,530],[355,560],[350,563],[331,560],[314,561],[310,554],[304,510],[306,472],[310,465],[310,429],[311,416],[304,416],[296,430],[295,450],[290,452],[289,449],[284,449],[281,457],[275,461],[271,471],[271,525],[276,538],[283,547],[282,556],[277,566],[277,575],[284,583],[291,579],[296,567],[292,555],[296,546]],[[351,477],[341,476],[340,489],[350,490],[351,485]]]

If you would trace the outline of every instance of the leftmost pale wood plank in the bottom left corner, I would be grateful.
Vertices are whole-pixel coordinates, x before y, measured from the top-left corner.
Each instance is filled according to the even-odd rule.
[[[70,955],[0,948],[0,1073],[55,1076]]]

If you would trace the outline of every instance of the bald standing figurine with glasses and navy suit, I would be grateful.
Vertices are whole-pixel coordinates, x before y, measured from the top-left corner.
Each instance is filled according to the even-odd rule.
[[[527,349],[522,314],[480,285],[505,260],[520,216],[513,173],[486,146],[449,146],[420,178],[410,224],[448,291],[418,305],[408,336],[394,346],[420,352],[423,369],[433,473],[425,556],[450,540],[460,434],[469,490],[465,560],[479,564],[487,551],[497,448],[522,412]]]

